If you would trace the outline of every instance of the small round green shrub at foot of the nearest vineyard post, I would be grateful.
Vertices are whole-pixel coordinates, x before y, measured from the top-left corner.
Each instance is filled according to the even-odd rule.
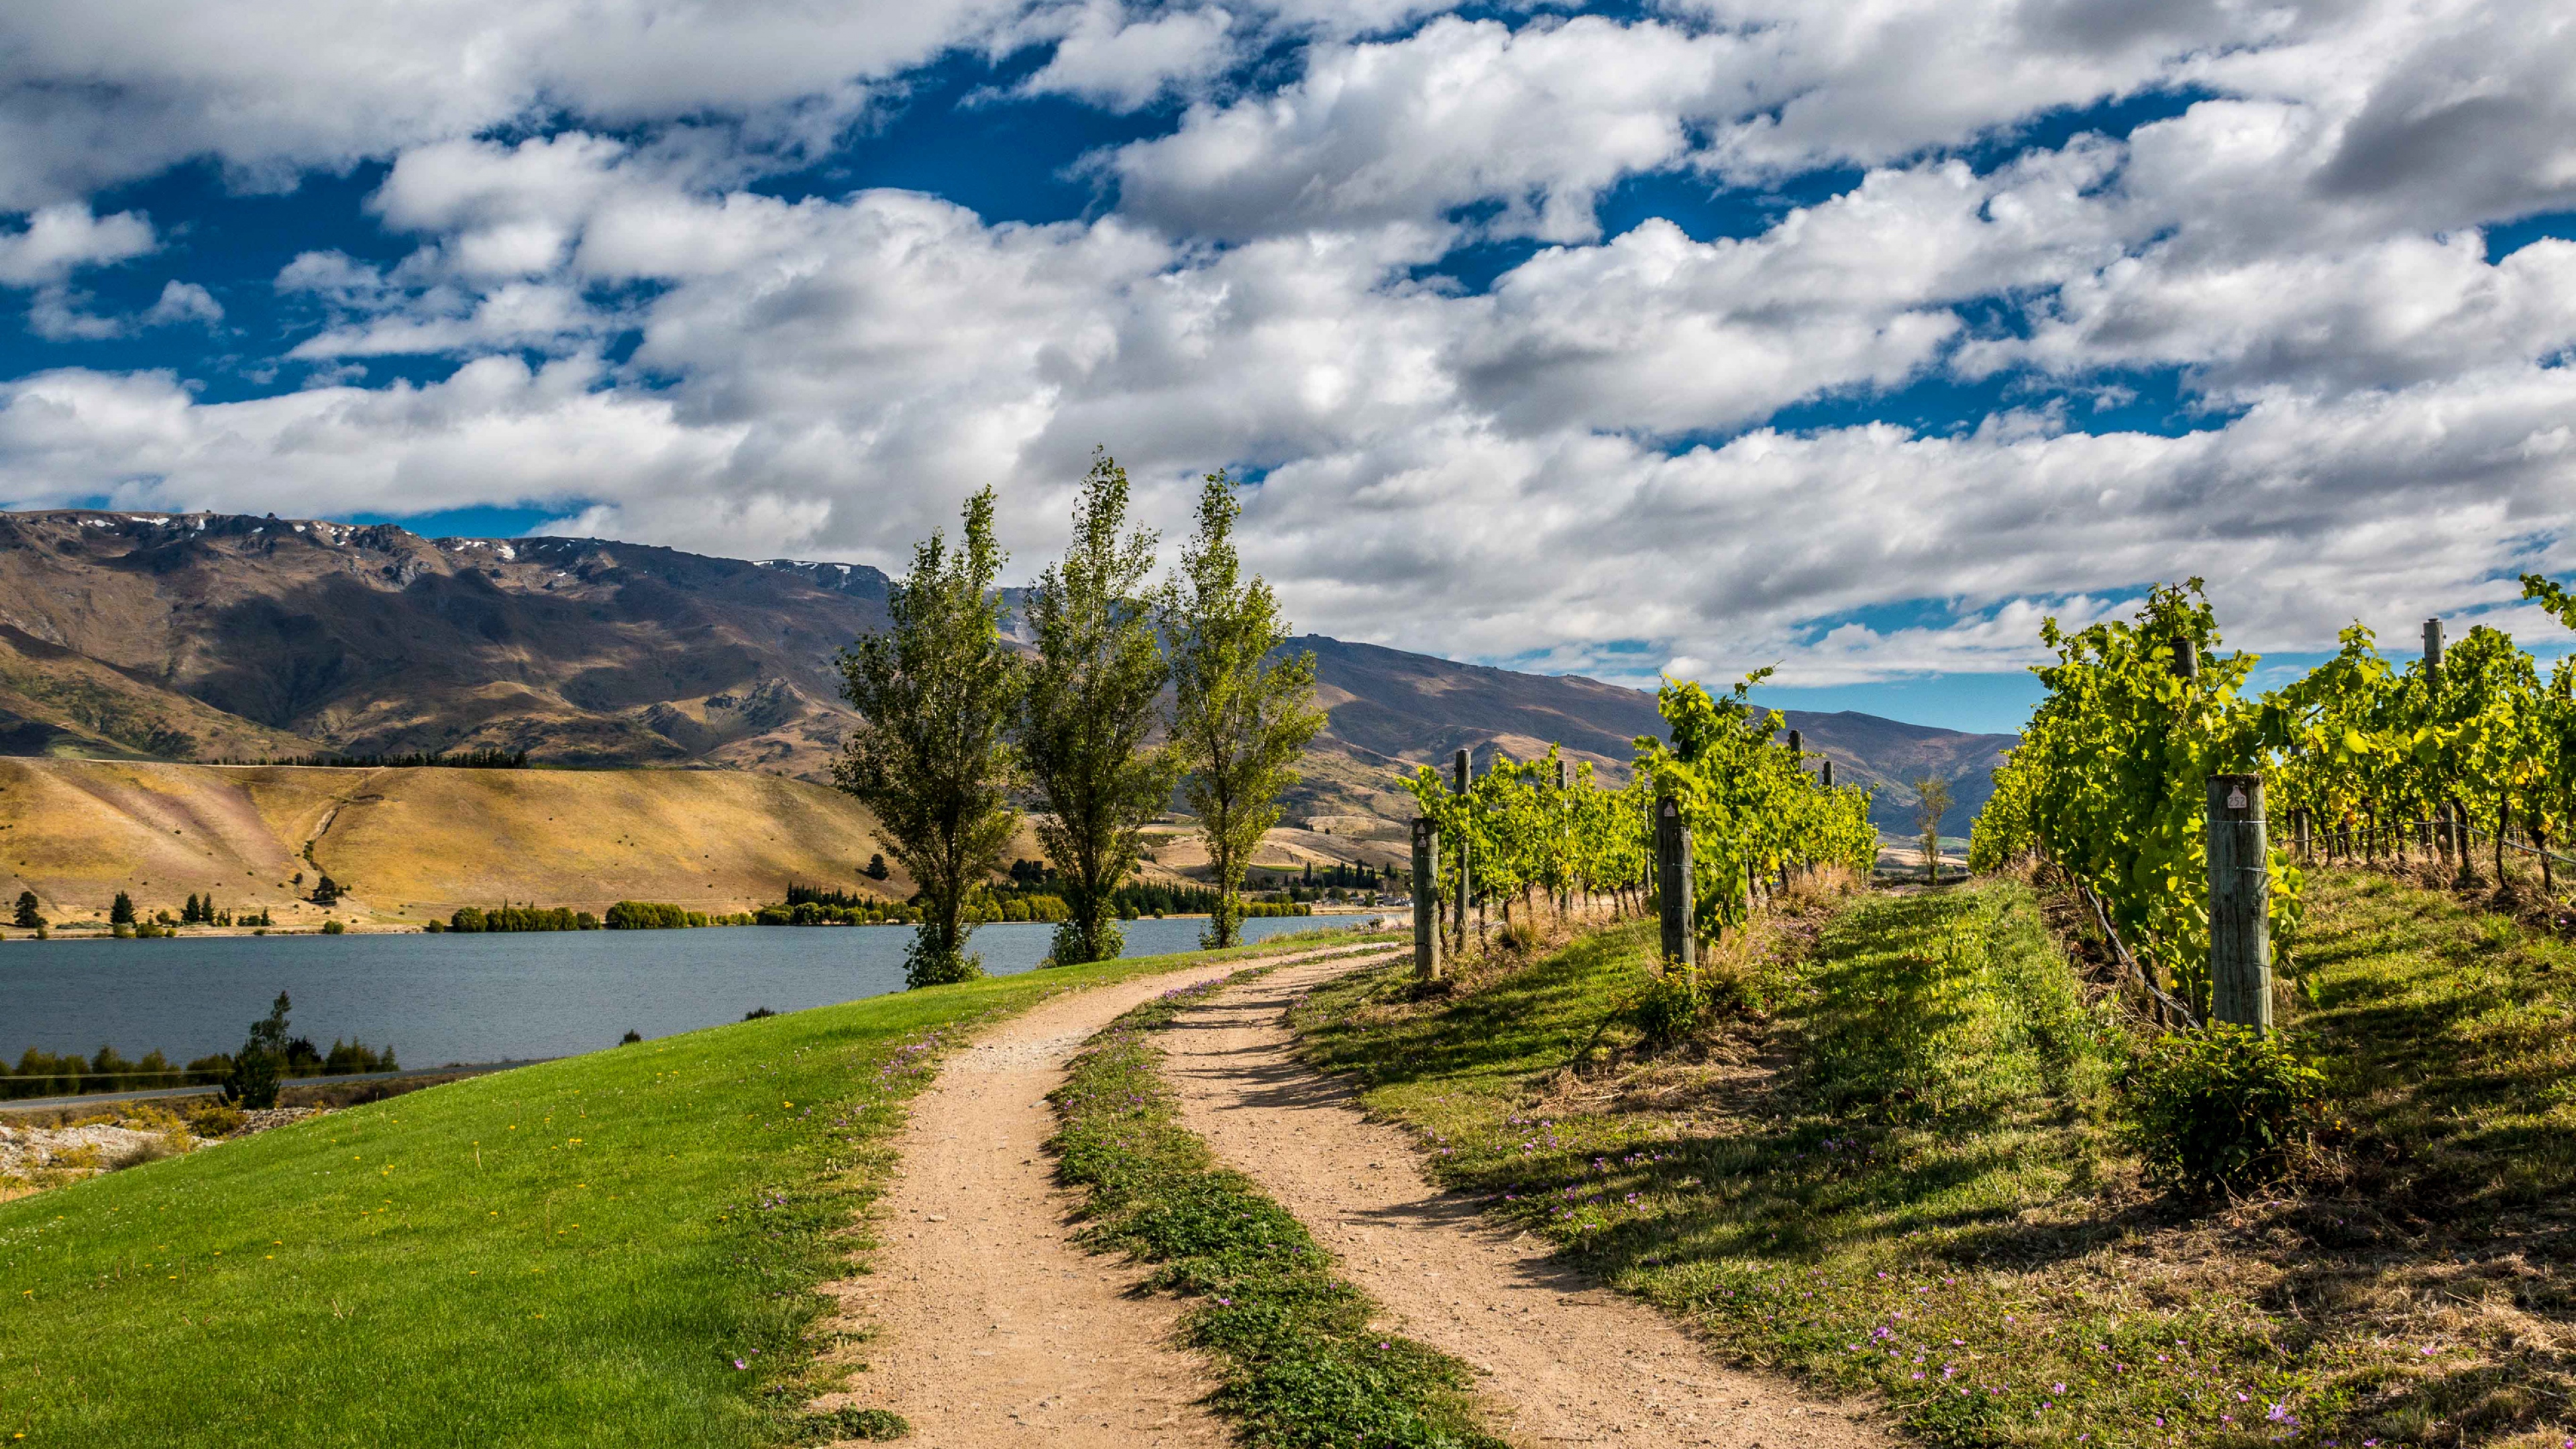
[[[2156,1036],[2120,1078],[2148,1181],[2187,1191],[2280,1176],[2324,1083],[2282,1034],[2226,1021]]]

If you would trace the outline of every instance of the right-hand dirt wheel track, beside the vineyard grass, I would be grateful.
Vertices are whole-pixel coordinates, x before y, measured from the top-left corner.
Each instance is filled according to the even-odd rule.
[[[1347,969],[1288,967],[1182,1013],[1164,1042],[1182,1119],[1340,1253],[1404,1333],[1481,1369],[1479,1390],[1515,1441],[1888,1444],[1855,1405],[1710,1364],[1654,1310],[1430,1186],[1401,1129],[1368,1122],[1288,1049],[1288,1006]]]

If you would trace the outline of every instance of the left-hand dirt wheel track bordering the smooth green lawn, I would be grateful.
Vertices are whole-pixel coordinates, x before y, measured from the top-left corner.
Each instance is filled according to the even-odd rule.
[[[1347,951],[1337,946],[1337,951]],[[1288,957],[1301,959],[1301,957]],[[876,1336],[832,1403],[891,1408],[922,1449],[1226,1444],[1200,1408],[1206,1369],[1172,1348],[1177,1305],[1131,1297],[1144,1276],[1066,1238],[1074,1196],[1041,1150],[1046,1093],[1118,1013],[1262,962],[1162,972],[1048,1000],[961,1049],[917,1098],[868,1276],[832,1284]]]

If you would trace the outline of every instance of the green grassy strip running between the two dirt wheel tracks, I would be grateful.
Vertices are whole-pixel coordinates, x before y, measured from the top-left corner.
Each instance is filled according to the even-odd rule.
[[[1151,1287],[1195,1299],[1182,1336],[1216,1356],[1213,1403],[1247,1444],[1502,1449],[1466,1405],[1466,1364],[1370,1330],[1376,1305],[1306,1225],[1180,1124],[1151,1029],[1221,985],[1121,1016],[1056,1088],[1048,1147],[1090,1189],[1082,1245],[1154,1263]]]

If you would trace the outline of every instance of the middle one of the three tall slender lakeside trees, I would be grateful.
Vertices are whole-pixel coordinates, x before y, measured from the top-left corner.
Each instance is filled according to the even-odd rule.
[[[1170,673],[1146,590],[1154,534],[1128,531],[1126,508],[1126,469],[1095,451],[1074,505],[1074,541],[1028,598],[1038,663],[1028,676],[1020,758],[1046,804],[1038,841],[1069,913],[1056,926],[1059,967],[1118,957],[1115,890],[1144,851],[1144,822],[1172,799],[1172,755],[1149,745]]]

